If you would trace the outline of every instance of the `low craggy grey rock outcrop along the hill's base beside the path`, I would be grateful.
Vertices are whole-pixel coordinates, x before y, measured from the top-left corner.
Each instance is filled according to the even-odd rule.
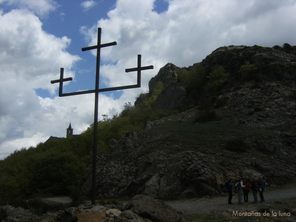
[[[159,150],[141,157],[130,154],[120,161],[107,158],[98,157],[104,167],[97,171],[97,193],[108,198],[132,194],[165,199],[214,195],[224,181],[223,172],[211,165],[215,160],[205,161],[198,152]],[[90,182],[89,177],[83,187],[88,195]]]

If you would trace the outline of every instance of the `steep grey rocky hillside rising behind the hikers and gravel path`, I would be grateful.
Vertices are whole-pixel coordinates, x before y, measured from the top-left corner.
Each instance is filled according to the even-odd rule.
[[[228,80],[219,90],[207,82],[192,96],[179,81],[178,70],[194,66],[162,67],[145,96],[162,82],[155,106],[182,112],[110,141],[110,154],[97,156],[97,197],[215,195],[224,192],[229,178],[260,175],[269,186],[295,181],[295,55],[260,46],[227,46],[199,64],[207,76],[222,66]],[[249,71],[243,72],[244,65]],[[91,166],[83,193],[91,193]]]

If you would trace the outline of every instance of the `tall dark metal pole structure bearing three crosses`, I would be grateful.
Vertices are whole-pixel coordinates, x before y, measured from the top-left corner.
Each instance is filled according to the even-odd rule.
[[[52,84],[59,83],[59,97],[89,94],[89,93],[95,94],[95,101],[94,101],[94,149],[93,149],[93,163],[92,163],[93,167],[92,167],[92,195],[91,195],[91,204],[93,204],[93,205],[96,203],[96,152],[97,152],[97,141],[98,141],[97,137],[98,137],[99,92],[139,88],[139,87],[141,87],[141,70],[153,69],[153,65],[141,67],[141,55],[138,55],[138,66],[135,68],[130,68],[130,69],[125,70],[126,73],[137,71],[137,84],[129,85],[129,86],[118,86],[118,87],[99,89],[101,48],[117,45],[117,42],[110,42],[110,43],[106,43],[106,44],[101,44],[101,31],[102,31],[102,29],[98,28],[98,43],[96,46],[89,46],[89,47],[85,47],[85,48],[81,49],[83,52],[87,51],[87,50],[91,50],[91,49],[97,49],[95,89],[86,90],[86,91],[71,92],[71,93],[63,93],[63,83],[66,81],[73,80],[72,77],[64,78],[64,68],[61,68],[61,70],[60,70],[60,78],[50,82]]]

